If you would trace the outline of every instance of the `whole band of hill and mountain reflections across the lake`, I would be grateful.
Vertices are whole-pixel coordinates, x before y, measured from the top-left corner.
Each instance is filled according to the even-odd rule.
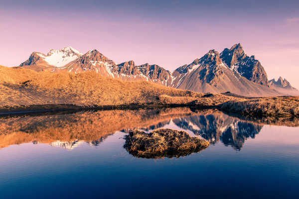
[[[108,135],[130,129],[146,131],[171,126],[184,129],[214,144],[221,141],[240,150],[247,138],[255,138],[263,123],[275,124],[273,118],[257,119],[230,116],[216,109],[191,110],[187,107],[137,110],[101,110],[51,115],[7,116],[0,118],[0,148],[12,144],[49,143],[73,149],[83,142],[99,145]],[[279,121],[297,126],[298,121]]]

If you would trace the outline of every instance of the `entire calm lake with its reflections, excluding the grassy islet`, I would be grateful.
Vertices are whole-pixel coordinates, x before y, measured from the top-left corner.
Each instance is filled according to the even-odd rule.
[[[0,117],[0,198],[299,198],[299,120],[187,107]],[[145,159],[124,135],[185,130],[198,153]]]

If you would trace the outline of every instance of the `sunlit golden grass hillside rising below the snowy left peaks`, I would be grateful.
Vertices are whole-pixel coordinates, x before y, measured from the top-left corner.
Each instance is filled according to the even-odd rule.
[[[23,81],[23,80],[22,80]],[[125,82],[95,72],[80,74],[40,72],[26,84],[2,84],[0,106],[30,104],[75,104],[118,106],[159,102],[160,95],[189,97],[201,94],[149,82]],[[185,101],[184,101],[185,102]]]

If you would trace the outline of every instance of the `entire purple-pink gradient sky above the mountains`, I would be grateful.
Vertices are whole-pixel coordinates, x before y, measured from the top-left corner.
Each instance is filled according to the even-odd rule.
[[[0,0],[0,28],[4,66],[72,46],[171,71],[241,43],[299,88],[299,0]]]

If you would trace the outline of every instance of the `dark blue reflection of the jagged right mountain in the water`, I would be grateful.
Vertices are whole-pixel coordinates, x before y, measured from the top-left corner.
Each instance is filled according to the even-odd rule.
[[[211,143],[221,140],[225,145],[232,145],[236,149],[240,149],[247,138],[254,138],[263,127],[259,124],[240,121],[238,118],[220,111],[215,111],[213,114],[177,118],[173,119],[173,122],[181,128],[202,136]]]

